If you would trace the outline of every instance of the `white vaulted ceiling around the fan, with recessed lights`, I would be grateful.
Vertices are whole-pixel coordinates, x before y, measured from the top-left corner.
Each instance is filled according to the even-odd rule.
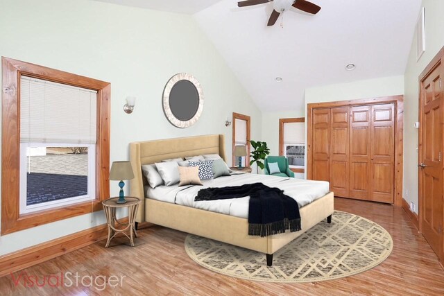
[[[403,75],[421,2],[311,0],[322,7],[317,15],[291,8],[268,27],[272,3],[238,8],[235,0],[101,1],[194,14],[266,111],[302,110],[308,87]],[[350,63],[356,69],[346,71]]]

